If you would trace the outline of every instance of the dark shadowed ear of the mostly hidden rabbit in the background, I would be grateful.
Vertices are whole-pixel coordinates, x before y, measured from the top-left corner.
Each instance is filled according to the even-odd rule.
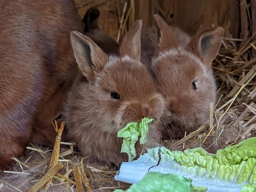
[[[84,32],[89,32],[95,28],[98,28],[98,18],[100,11],[96,7],[90,8],[84,15],[83,22],[85,23]]]

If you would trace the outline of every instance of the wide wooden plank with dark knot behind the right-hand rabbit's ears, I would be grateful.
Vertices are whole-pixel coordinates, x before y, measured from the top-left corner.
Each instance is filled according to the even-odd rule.
[[[198,27],[220,25],[234,38],[239,36],[239,1],[234,0],[163,0],[159,10],[168,24],[178,26],[191,35]]]

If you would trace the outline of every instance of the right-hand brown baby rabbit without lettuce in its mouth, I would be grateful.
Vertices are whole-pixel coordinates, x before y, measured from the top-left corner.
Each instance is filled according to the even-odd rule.
[[[171,26],[155,15],[161,30],[151,69],[158,90],[166,99],[161,122],[173,138],[184,137],[197,129],[209,116],[209,104],[215,102],[216,85],[211,68],[224,29],[220,26],[190,38],[174,33]]]

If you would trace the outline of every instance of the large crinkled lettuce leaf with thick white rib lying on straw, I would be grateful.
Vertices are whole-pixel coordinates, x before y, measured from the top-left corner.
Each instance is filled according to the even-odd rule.
[[[115,179],[137,183],[148,172],[171,173],[191,179],[193,185],[206,187],[208,192],[256,191],[255,145],[256,137],[252,137],[220,149],[216,155],[201,147],[185,151],[156,147],[135,161],[124,162]]]

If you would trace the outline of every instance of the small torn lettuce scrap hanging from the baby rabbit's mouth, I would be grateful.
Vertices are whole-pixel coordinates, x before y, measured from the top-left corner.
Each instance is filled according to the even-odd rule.
[[[147,142],[148,123],[151,123],[154,119],[144,117],[141,122],[130,122],[123,129],[119,130],[117,137],[123,137],[123,144],[121,153],[128,154],[128,161],[132,161],[136,156],[135,143],[140,136],[140,144]]]

